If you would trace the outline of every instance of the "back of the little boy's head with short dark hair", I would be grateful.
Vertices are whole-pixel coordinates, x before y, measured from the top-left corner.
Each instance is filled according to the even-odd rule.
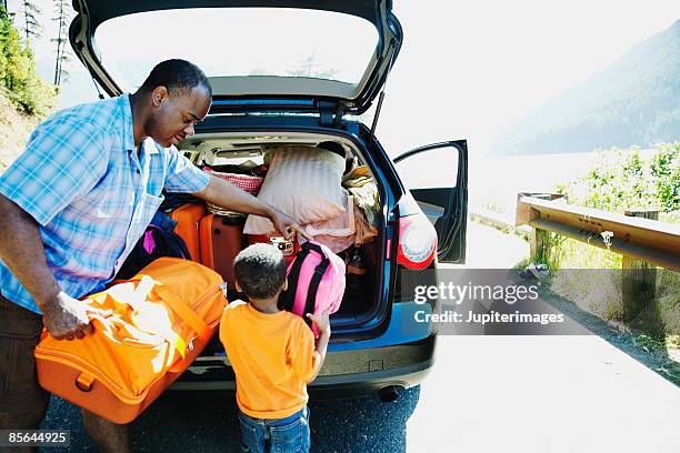
[[[233,274],[247,296],[273,298],[286,282],[286,261],[274,245],[252,244],[233,260]]]

